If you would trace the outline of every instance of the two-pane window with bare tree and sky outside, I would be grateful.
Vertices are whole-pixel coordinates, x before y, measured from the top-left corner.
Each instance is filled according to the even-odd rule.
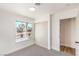
[[[32,23],[16,21],[16,42],[30,40],[32,38]]]

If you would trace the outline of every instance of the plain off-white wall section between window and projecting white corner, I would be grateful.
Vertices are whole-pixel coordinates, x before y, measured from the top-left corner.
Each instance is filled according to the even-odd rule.
[[[48,22],[35,24],[35,41],[37,45],[48,48]]]

